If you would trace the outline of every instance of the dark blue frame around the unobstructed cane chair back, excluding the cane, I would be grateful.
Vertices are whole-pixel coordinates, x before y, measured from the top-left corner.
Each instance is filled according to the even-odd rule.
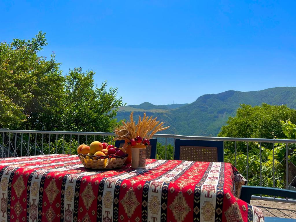
[[[176,139],[174,159],[180,160],[181,146],[217,147],[217,162],[224,162],[223,141]],[[196,160],[198,161],[198,160]]]

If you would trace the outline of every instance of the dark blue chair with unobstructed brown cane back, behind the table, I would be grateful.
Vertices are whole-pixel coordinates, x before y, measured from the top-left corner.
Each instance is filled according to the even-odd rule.
[[[223,162],[223,141],[176,139],[174,159]]]

